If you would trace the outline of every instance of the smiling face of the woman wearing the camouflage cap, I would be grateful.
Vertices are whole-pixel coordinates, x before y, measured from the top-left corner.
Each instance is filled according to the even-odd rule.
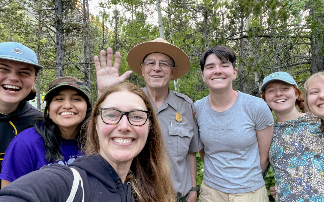
[[[64,131],[77,132],[86,117],[87,102],[80,92],[64,89],[52,98],[48,114]]]

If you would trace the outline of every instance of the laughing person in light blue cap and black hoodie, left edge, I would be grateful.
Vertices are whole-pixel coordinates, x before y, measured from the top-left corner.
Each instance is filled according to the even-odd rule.
[[[17,42],[0,43],[0,173],[12,138],[43,117],[28,102],[36,96],[34,84],[42,68],[30,48]]]

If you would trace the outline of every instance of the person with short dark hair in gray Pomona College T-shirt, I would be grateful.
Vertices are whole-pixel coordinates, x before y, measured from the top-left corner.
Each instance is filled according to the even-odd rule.
[[[200,60],[209,95],[195,102],[204,162],[199,201],[269,201],[262,173],[267,167],[273,117],[261,99],[233,90],[236,57],[224,46]]]

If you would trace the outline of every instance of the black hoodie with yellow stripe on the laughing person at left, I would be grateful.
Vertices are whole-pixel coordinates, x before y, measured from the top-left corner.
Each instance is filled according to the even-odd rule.
[[[2,159],[12,138],[33,127],[39,118],[44,118],[44,114],[28,101],[21,101],[17,109],[10,114],[0,114],[0,172]]]

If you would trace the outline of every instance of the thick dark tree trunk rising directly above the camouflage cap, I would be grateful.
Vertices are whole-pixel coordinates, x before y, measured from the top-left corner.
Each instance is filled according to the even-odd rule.
[[[56,78],[64,73],[64,30],[63,30],[63,3],[54,1],[55,7],[55,35],[56,35]]]

